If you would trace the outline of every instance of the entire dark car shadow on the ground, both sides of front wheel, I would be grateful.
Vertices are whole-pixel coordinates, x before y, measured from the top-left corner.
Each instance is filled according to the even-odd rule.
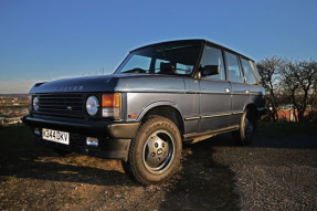
[[[99,187],[141,188],[163,199],[159,210],[239,210],[239,196],[234,191],[234,172],[212,158],[216,137],[196,145],[184,145],[179,173],[167,184],[151,190],[131,180],[117,160],[104,160],[72,154],[59,157],[51,149],[36,147],[36,152],[20,156],[1,166],[1,175],[45,182],[71,182]],[[232,141],[228,141],[232,145]],[[61,183],[62,184],[62,183]],[[68,184],[67,184],[68,186]],[[115,194],[115,193],[114,193]],[[127,199],[128,200],[128,199]],[[125,202],[125,201],[123,201]]]

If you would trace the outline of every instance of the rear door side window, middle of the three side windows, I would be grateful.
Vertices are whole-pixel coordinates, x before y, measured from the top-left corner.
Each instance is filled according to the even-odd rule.
[[[242,68],[237,56],[233,53],[225,52],[228,71],[231,82],[244,83]]]

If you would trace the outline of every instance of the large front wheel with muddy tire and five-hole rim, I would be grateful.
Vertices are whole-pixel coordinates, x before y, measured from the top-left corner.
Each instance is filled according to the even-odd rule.
[[[181,149],[178,127],[168,118],[152,116],[131,140],[128,161],[123,162],[123,168],[142,184],[161,183],[178,169]]]

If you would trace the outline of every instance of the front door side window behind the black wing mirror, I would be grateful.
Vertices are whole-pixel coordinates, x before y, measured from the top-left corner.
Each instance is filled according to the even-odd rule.
[[[214,80],[225,80],[224,65],[222,52],[220,49],[212,46],[204,46],[203,56],[201,59],[201,68],[205,66],[216,66],[219,74],[208,75],[203,77],[214,78]]]

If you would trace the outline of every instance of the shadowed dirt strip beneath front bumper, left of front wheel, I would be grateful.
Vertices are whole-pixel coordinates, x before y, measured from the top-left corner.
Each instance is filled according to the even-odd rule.
[[[53,150],[44,150],[46,156],[40,152],[39,157],[19,157],[19,160],[12,163],[1,165],[0,175],[96,186],[140,186],[127,178],[117,160],[104,160],[76,154],[62,157]]]

